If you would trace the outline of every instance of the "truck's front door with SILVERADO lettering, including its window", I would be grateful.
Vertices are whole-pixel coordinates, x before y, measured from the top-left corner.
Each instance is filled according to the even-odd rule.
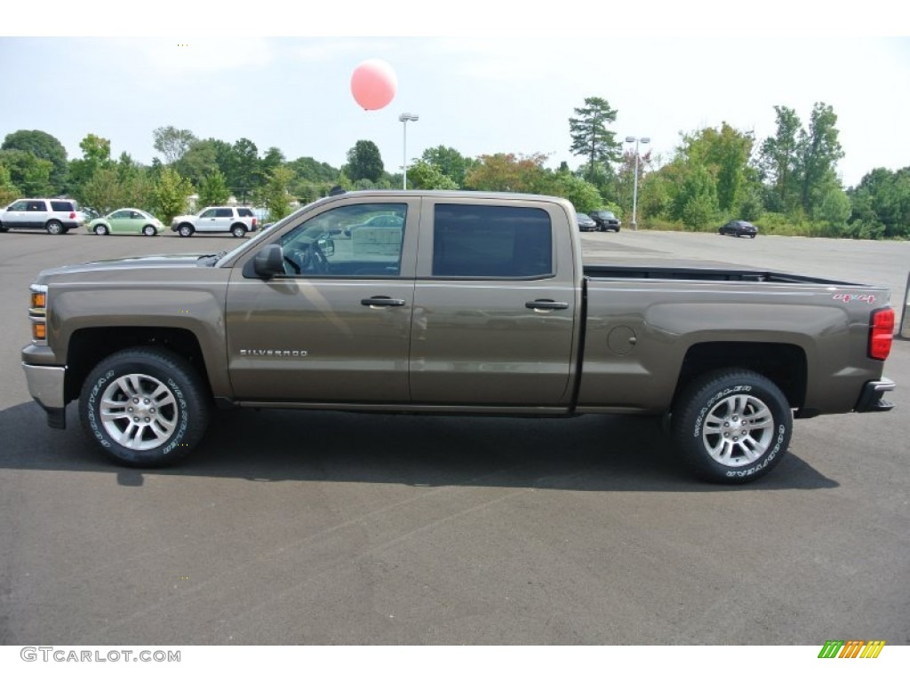
[[[238,263],[227,290],[235,396],[338,404],[410,400],[417,206],[417,199],[333,203],[262,242],[282,246],[284,275],[262,280]],[[379,227],[369,222],[377,216],[398,220]]]

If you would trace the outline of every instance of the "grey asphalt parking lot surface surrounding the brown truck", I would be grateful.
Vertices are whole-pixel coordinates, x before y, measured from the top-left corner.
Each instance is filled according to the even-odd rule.
[[[45,426],[19,351],[38,270],[231,237],[0,235],[0,644],[910,643],[910,342],[892,412],[796,423],[751,486],[694,482],[654,420],[244,411],[185,464],[109,464]],[[910,244],[627,232],[883,284]]]

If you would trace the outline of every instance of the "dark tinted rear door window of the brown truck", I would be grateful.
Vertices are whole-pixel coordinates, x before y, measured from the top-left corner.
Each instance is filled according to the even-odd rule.
[[[550,215],[541,208],[436,206],[433,276],[549,276],[552,251]]]

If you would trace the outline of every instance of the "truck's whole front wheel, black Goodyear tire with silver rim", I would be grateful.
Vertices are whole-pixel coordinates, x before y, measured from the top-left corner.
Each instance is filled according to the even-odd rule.
[[[162,466],[187,456],[202,439],[208,396],[182,357],[148,346],[128,348],[86,377],[79,416],[107,456],[129,466]]]

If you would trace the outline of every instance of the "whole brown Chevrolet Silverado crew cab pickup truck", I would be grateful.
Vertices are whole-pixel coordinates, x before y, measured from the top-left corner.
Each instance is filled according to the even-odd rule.
[[[186,456],[214,408],[620,414],[669,416],[693,473],[733,483],[781,461],[794,418],[892,407],[887,289],[584,265],[575,225],[553,197],[363,191],[229,253],[45,270],[29,390],[57,428],[78,400],[133,466]]]

